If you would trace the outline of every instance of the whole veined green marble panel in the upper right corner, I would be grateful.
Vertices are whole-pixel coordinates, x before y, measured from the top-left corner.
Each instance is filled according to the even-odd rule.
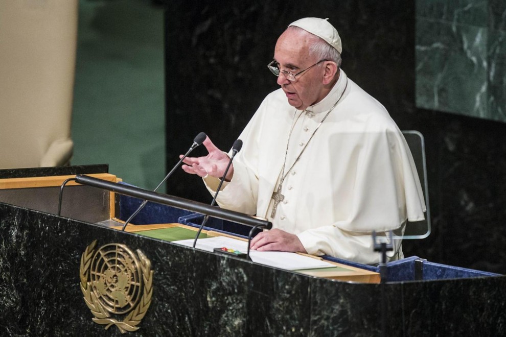
[[[505,28],[502,0],[417,0],[417,106],[506,122]]]

